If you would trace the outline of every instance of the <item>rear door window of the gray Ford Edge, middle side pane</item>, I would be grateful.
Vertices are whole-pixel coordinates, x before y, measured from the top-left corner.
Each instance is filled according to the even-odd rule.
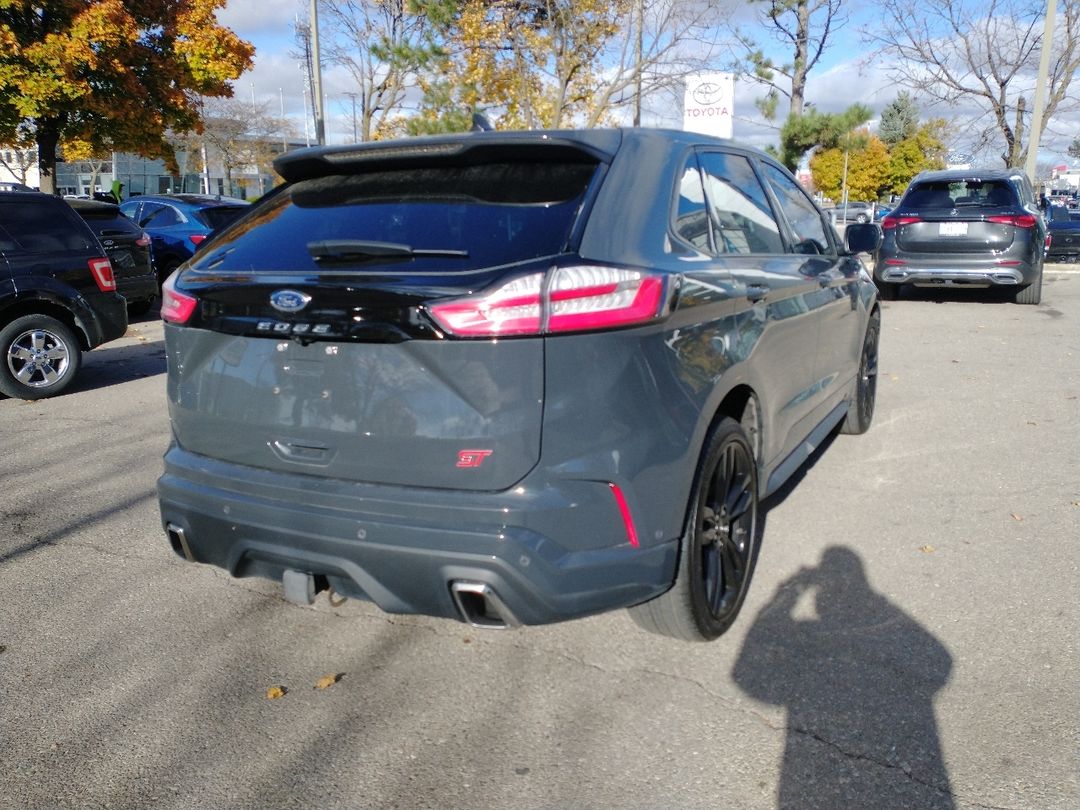
[[[780,227],[750,161],[741,154],[700,156],[716,252],[783,253]]]

